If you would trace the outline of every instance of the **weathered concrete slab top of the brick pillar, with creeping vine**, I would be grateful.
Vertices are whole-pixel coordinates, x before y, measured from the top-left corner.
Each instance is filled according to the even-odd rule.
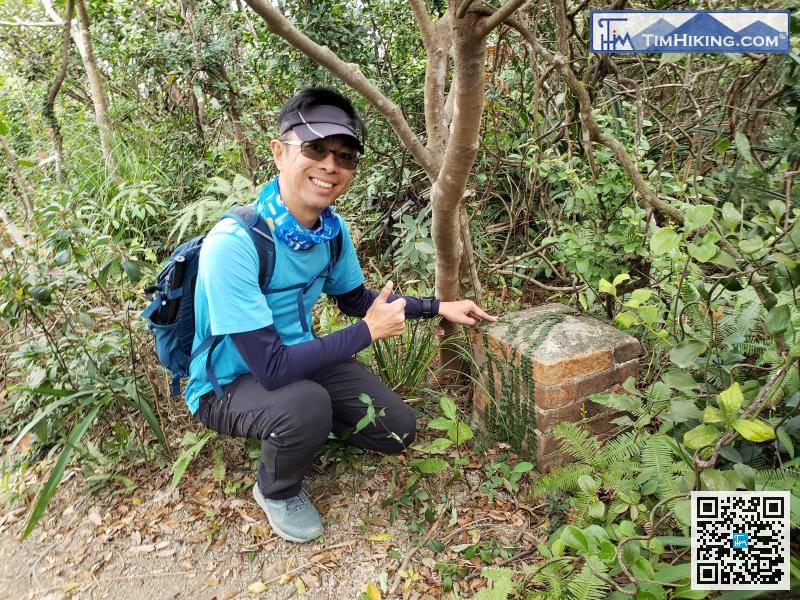
[[[553,325],[552,317],[558,315],[563,315],[563,320]],[[549,333],[540,341],[538,338],[548,326]],[[507,313],[485,326],[483,332],[517,348],[528,358],[547,364],[636,342],[636,338],[613,325],[557,302]]]

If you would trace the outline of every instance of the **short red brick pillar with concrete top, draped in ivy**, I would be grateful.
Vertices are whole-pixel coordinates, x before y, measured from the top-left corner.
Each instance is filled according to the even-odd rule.
[[[473,417],[489,435],[545,471],[567,457],[553,437],[561,421],[607,438],[619,413],[587,400],[636,377],[639,341],[564,306],[504,315],[473,337]]]

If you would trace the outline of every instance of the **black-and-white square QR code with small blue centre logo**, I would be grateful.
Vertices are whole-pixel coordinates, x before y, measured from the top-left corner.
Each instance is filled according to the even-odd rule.
[[[789,589],[789,492],[692,492],[692,589]]]

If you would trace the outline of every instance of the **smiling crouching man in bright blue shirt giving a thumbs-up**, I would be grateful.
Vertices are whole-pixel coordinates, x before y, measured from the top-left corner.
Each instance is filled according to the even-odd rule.
[[[234,219],[220,220],[200,252],[195,349],[210,336],[224,337],[210,350],[211,371],[209,350],[192,361],[186,402],[206,427],[261,440],[253,496],[278,535],[306,542],[322,534],[322,520],[303,478],[328,435],[352,430],[364,416],[360,394],[383,416],[349,443],[397,453],[414,439],[414,410],[353,355],[400,335],[406,318],[441,315],[469,325],[496,318],[470,300],[395,296],[392,282],[380,292],[365,288],[347,224],[332,206],[364,151],[363,122],[344,96],[324,88],[293,97],[278,122],[271,150],[279,174],[254,205],[274,240],[269,287],[259,287],[261,261],[250,234]],[[311,309],[322,292],[361,320],[315,337]]]

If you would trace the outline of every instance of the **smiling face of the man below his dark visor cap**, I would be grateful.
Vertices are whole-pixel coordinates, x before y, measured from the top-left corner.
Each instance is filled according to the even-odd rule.
[[[300,142],[293,131],[287,141]],[[318,140],[329,150],[356,153],[353,141],[346,135],[333,135]],[[323,160],[304,156],[300,146],[272,140],[272,154],[280,172],[281,196],[300,210],[320,213],[341,196],[353,179],[353,171],[336,164],[330,152]]]

